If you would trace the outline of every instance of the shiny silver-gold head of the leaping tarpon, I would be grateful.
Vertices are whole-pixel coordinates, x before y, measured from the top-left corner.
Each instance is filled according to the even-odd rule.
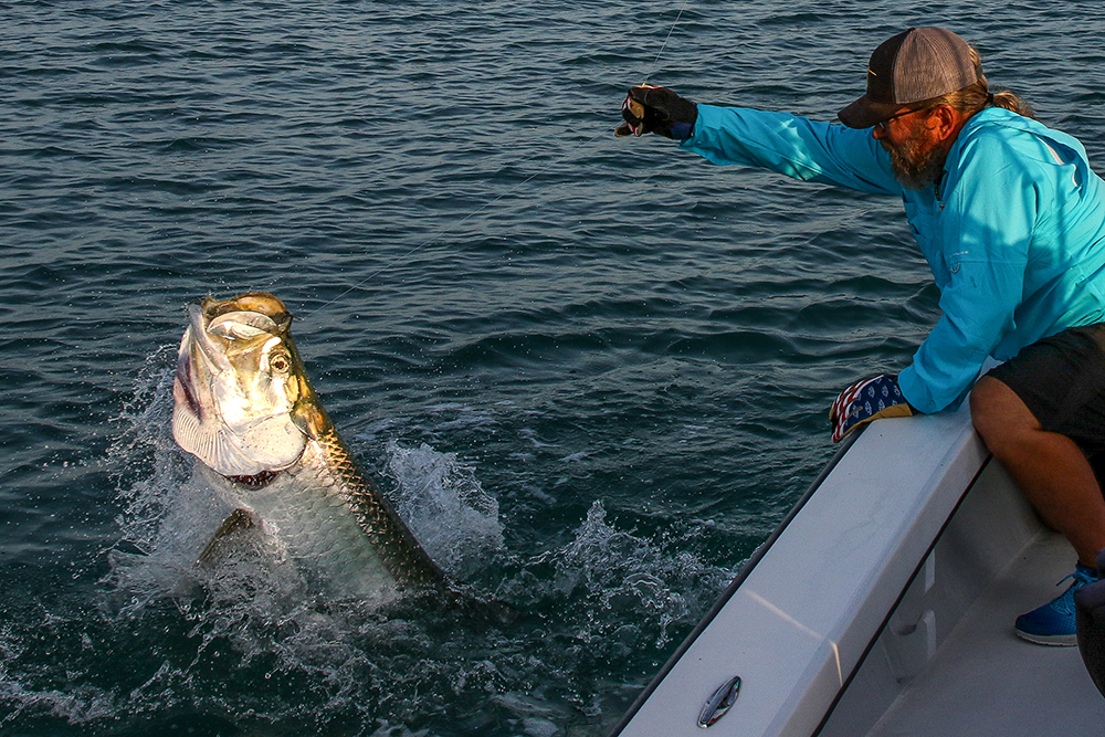
[[[172,385],[172,436],[224,476],[282,471],[325,414],[292,340],[292,314],[271,294],[188,307]]]

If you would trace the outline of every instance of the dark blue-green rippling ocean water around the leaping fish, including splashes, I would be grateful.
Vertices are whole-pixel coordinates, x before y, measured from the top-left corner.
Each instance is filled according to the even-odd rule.
[[[1090,2],[0,9],[0,733],[606,734],[939,315],[899,203],[615,139],[624,90],[831,119],[912,24],[1105,158]],[[183,307],[253,289],[517,620],[320,601],[264,545],[179,596]]]

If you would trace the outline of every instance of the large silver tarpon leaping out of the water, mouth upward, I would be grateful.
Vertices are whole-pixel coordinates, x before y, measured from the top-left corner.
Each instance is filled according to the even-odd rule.
[[[442,570],[358,467],[307,379],[292,315],[265,293],[188,308],[172,386],[172,436],[233,512],[220,539],[264,525],[330,590],[438,586]]]

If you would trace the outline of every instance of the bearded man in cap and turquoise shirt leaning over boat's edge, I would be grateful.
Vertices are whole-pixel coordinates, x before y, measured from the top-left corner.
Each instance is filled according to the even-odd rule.
[[[970,392],[987,446],[1078,556],[1074,582],[1015,631],[1075,644],[1073,593],[1097,580],[1105,548],[1087,460],[1105,450],[1105,182],[1083,146],[1015,95],[991,94],[977,52],[938,28],[872,53],[867,93],[840,112],[843,126],[650,86],[630,91],[622,116],[619,135],[659,133],[715,164],[902,197],[944,315],[901,373],[841,392],[833,440]],[[1006,362],[979,379],[990,356]]]

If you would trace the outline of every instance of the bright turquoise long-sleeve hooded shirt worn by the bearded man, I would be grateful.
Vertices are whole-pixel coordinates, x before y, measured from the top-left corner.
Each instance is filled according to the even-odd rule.
[[[988,356],[1105,319],[1105,182],[1077,139],[1009,110],[974,115],[939,188],[903,188],[871,136],[783,113],[698,106],[682,145],[714,164],[902,198],[944,315],[898,375],[922,412],[958,404]]]

